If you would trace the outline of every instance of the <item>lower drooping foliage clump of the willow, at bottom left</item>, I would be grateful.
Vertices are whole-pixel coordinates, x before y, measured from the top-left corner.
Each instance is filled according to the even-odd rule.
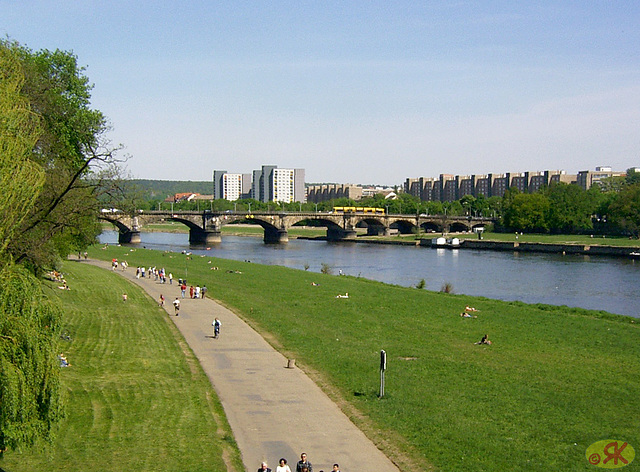
[[[0,455],[50,439],[62,415],[61,311],[19,266],[0,271]]]

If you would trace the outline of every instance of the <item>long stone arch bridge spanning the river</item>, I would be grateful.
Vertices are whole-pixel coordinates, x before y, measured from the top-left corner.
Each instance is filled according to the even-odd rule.
[[[222,240],[221,229],[230,223],[251,223],[264,229],[264,242],[285,243],[292,226],[310,221],[327,228],[329,241],[346,241],[356,238],[356,228],[367,228],[367,235],[382,236],[397,230],[402,234],[417,232],[471,231],[493,223],[491,218],[471,218],[447,215],[389,215],[364,212],[217,212],[217,211],[145,211],[135,216],[122,213],[103,213],[100,218],[118,228],[121,244],[140,243],[140,230],[149,224],[176,221],[189,228],[189,243],[214,244]]]

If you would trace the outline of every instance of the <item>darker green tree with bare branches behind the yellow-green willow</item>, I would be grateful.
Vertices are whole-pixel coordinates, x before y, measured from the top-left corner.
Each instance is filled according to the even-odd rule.
[[[8,245],[14,259],[34,268],[52,266],[96,240],[100,196],[113,197],[119,175],[106,118],[90,108],[91,88],[77,58],[64,51],[39,51],[1,41],[24,70],[22,94],[41,116],[42,133],[30,161],[46,173],[35,204]]]

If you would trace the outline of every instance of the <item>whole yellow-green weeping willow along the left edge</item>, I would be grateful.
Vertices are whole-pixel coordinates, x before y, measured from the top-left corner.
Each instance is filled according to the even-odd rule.
[[[23,84],[20,58],[0,47],[0,456],[50,439],[61,416],[61,311],[7,253],[44,183],[41,166],[30,160],[40,120],[22,95]]]

